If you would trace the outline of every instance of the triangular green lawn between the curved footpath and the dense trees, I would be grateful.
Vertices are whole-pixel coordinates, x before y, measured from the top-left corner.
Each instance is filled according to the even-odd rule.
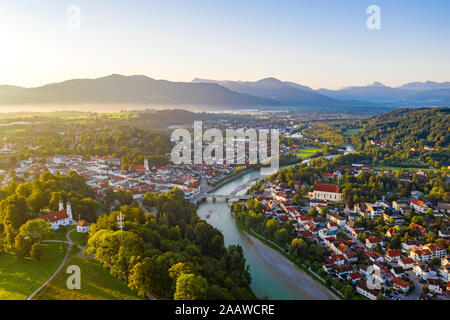
[[[81,289],[70,290],[65,270],[77,265],[81,270]],[[61,272],[35,297],[34,300],[137,300],[141,299],[125,281],[112,276],[99,262],[73,256]]]

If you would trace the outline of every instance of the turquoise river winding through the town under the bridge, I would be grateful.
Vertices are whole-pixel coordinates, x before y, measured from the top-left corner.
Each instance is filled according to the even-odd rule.
[[[355,152],[353,146],[346,145],[345,147],[346,152]],[[254,183],[258,178],[261,178],[259,170],[251,171],[226,183],[214,191],[214,194],[245,194],[252,182]],[[243,186],[246,187],[243,188]],[[235,190],[239,190],[239,192],[235,192]],[[251,287],[259,298],[267,296],[270,299],[279,300],[305,300],[329,297],[329,292],[319,283],[311,280],[302,272],[297,272],[293,265],[289,265],[290,262],[275,250],[261,245],[259,241],[255,241],[240,230],[226,202],[204,201],[199,205],[197,214],[222,231],[226,246],[239,244],[242,247],[247,264],[250,265]],[[206,218],[208,215],[209,218]],[[270,259],[276,259],[276,261]],[[293,279],[297,282],[293,283]]]

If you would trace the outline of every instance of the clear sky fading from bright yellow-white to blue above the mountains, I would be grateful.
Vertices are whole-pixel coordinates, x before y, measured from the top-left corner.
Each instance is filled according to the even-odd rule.
[[[70,6],[79,8],[68,10]],[[369,29],[370,5],[380,29]],[[79,19],[77,19],[79,17]],[[77,23],[79,21],[79,23]],[[314,89],[450,81],[448,0],[2,0],[0,84],[113,73]]]

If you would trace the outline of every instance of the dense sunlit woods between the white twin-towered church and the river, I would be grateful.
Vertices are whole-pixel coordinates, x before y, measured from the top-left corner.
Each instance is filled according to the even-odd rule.
[[[88,254],[142,296],[162,299],[255,299],[240,246],[225,247],[222,233],[200,220],[179,189],[152,197],[154,216],[123,206],[99,217],[89,232]]]

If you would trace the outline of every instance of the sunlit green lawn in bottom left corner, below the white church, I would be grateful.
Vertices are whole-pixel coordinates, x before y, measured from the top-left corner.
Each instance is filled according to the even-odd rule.
[[[50,277],[61,263],[66,244],[44,243],[41,261],[21,261],[12,253],[0,255],[0,300],[24,300]]]

